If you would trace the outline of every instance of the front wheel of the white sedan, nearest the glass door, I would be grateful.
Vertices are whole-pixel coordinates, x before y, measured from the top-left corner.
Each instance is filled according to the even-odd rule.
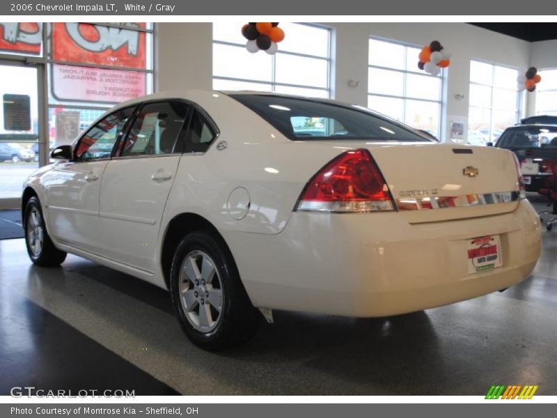
[[[27,202],[23,220],[25,244],[31,261],[41,267],[61,265],[67,253],[54,247],[45,227],[40,203],[35,196]]]

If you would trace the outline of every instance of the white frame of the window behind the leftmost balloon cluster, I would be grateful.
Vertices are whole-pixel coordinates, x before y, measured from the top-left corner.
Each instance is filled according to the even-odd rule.
[[[332,47],[333,47],[332,32],[333,32],[333,29],[329,26],[320,25],[320,24],[298,23],[298,22],[294,22],[294,23],[302,25],[302,26],[310,26],[310,27],[314,27],[314,28],[318,28],[318,29],[327,30],[327,32],[328,32],[327,33],[327,35],[328,35],[327,36],[327,42],[328,42],[327,57],[317,56],[317,55],[310,55],[310,54],[302,54],[302,53],[299,53],[299,52],[281,51],[280,48],[278,49],[276,54],[285,54],[285,55],[298,56],[298,57],[301,57],[301,58],[320,59],[322,61],[326,61],[327,62],[327,88],[315,87],[315,86],[306,86],[306,85],[303,85],[303,84],[290,84],[290,83],[276,82],[276,54],[273,54],[271,56],[272,63],[271,63],[271,81],[270,82],[254,80],[254,79],[244,79],[244,78],[214,75],[214,72],[212,73],[212,76],[211,76],[212,81],[214,81],[215,79],[219,79],[219,80],[225,80],[225,81],[229,81],[229,82],[244,82],[244,83],[253,83],[253,84],[265,84],[265,85],[271,87],[270,93],[277,93],[276,92],[276,86],[292,87],[292,88],[307,88],[307,89],[315,90],[315,91],[327,91],[327,99],[332,98],[332,95],[333,95],[333,89],[332,89],[332,85],[333,85],[332,75],[333,75],[333,72],[331,70],[331,64],[333,63],[333,59],[332,59]],[[236,43],[236,42],[227,42],[227,41],[224,41],[224,40],[215,40],[214,38],[212,38],[212,45],[215,45],[215,44],[226,45],[226,46],[229,46],[229,47],[241,47],[242,49],[246,48],[245,44],[240,44],[240,43]],[[269,93],[269,92],[267,92],[267,93]]]

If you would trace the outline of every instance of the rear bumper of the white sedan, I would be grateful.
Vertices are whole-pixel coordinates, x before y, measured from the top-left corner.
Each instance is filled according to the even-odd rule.
[[[531,273],[541,247],[528,201],[502,215],[424,224],[409,224],[399,212],[293,212],[277,235],[221,233],[256,307],[361,317],[512,286]],[[466,240],[494,234],[501,237],[503,265],[469,274]]]

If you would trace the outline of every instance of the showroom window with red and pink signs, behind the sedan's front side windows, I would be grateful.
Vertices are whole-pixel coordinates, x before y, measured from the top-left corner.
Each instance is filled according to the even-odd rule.
[[[49,141],[68,143],[113,104],[152,93],[152,26],[52,24]]]

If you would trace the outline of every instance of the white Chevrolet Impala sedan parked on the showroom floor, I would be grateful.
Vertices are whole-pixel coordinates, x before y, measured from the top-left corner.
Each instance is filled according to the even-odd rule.
[[[207,349],[246,341],[258,309],[418,311],[507,288],[540,255],[510,151],[331,100],[157,93],[52,157],[24,184],[33,263],[69,252],[167,288]]]

